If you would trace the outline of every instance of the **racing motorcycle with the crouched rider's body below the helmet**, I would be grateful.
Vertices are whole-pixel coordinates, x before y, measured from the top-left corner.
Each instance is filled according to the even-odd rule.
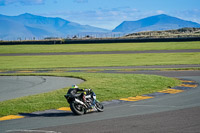
[[[69,89],[65,98],[75,115],[83,115],[92,111],[103,112],[104,110],[104,106],[96,99],[96,95],[92,90],[77,92],[74,89]]]

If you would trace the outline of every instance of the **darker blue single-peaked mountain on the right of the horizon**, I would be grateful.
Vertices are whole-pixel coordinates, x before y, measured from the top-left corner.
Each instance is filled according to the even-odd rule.
[[[117,26],[113,32],[133,33],[140,31],[162,31],[184,27],[198,28],[200,27],[200,24],[161,14],[137,21],[124,21]]]

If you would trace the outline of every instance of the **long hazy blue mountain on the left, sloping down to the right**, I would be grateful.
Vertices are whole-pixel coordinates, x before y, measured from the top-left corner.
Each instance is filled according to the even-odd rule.
[[[108,32],[108,30],[80,25],[61,18],[43,17],[29,13],[19,16],[0,15],[0,40],[42,39],[102,32]]]

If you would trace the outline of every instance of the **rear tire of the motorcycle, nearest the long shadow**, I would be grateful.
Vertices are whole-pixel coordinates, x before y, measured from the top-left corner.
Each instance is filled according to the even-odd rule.
[[[75,103],[75,102],[70,103],[70,109],[75,115],[85,114],[85,108],[79,103]]]

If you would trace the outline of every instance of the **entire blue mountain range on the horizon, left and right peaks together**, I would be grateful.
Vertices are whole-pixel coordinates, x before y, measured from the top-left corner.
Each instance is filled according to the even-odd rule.
[[[43,39],[45,37],[66,38],[68,35],[77,34],[134,33],[184,27],[199,28],[200,24],[161,14],[137,21],[124,21],[110,31],[89,25],[81,25],[58,17],[43,17],[25,13],[18,16],[0,15],[0,40]]]

